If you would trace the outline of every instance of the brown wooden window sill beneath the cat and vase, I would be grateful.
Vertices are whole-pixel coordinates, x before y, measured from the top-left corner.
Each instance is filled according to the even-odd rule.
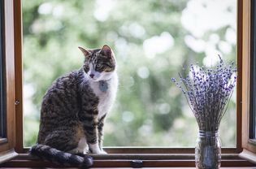
[[[194,167],[194,154],[107,154],[92,155],[93,167]],[[140,163],[137,163],[140,162]],[[255,167],[238,154],[223,154],[222,167]],[[60,167],[59,165],[20,154],[0,167]]]

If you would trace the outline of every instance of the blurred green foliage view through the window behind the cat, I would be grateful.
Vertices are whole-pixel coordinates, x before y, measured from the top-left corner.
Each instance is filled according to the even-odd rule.
[[[110,45],[119,91],[105,146],[193,147],[197,124],[171,77],[190,63],[236,61],[236,0],[23,1],[24,143],[37,139],[41,98],[83,62],[77,46]],[[236,93],[224,116],[223,146],[236,146]]]

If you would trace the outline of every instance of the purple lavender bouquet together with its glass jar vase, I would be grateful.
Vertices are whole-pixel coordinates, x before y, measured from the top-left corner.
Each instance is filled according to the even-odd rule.
[[[223,63],[219,56],[216,67],[191,65],[189,75],[172,81],[182,90],[193,115],[197,119],[199,134],[195,147],[197,168],[217,169],[221,161],[219,123],[227,111],[228,102],[236,85],[234,63]]]

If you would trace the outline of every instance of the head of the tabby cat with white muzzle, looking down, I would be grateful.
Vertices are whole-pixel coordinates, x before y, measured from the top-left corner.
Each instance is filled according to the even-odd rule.
[[[110,80],[115,72],[115,54],[108,45],[102,49],[85,50],[78,47],[85,55],[84,70],[90,80]]]

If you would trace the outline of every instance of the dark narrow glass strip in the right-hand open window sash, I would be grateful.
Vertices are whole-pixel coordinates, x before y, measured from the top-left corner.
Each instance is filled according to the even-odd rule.
[[[251,139],[256,138],[256,3],[251,1],[251,60],[250,60],[250,133]]]

